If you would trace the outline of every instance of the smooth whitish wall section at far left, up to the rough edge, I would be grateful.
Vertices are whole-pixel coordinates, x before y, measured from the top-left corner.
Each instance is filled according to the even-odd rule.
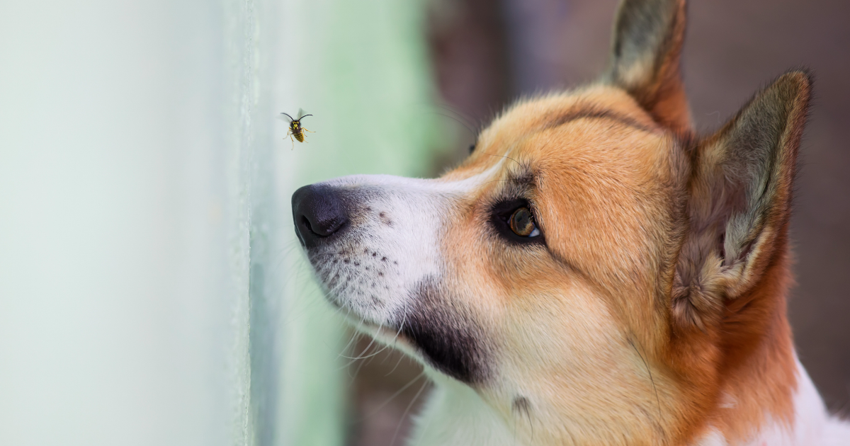
[[[0,3],[0,444],[233,443],[223,15]]]

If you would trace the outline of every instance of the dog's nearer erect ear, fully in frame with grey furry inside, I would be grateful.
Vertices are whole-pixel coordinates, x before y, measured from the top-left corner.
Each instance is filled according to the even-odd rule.
[[[758,285],[787,249],[797,148],[811,77],[792,71],[702,141],[689,183],[690,231],[672,290],[680,326],[705,330],[724,302]]]

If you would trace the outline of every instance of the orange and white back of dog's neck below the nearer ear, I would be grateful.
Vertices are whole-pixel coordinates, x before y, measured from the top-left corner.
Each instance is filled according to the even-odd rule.
[[[796,358],[785,301],[791,274],[787,247],[782,248],[761,285],[728,304],[717,403],[708,414],[712,421],[703,426],[705,437],[696,444],[832,444],[826,430],[850,431],[830,421]],[[845,442],[850,444],[850,433]]]

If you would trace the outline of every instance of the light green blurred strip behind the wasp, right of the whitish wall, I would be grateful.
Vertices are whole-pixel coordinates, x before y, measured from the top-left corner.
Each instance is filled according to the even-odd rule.
[[[243,132],[253,139],[242,141],[253,157],[247,443],[338,445],[351,381],[340,354],[350,334],[313,282],[294,234],[290,196],[342,175],[431,170],[433,148],[445,138],[431,107],[426,4],[250,5],[232,3],[246,13],[241,38],[256,46],[244,54],[256,74],[243,73],[238,84],[242,98],[254,98],[252,130]],[[303,126],[314,133],[292,150],[278,116],[299,108],[313,115]]]

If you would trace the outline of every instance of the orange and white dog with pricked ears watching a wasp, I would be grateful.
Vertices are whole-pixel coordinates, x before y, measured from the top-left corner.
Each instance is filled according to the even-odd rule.
[[[411,445],[850,445],[786,317],[811,76],[696,134],[685,9],[622,2],[598,82],[513,104],[440,178],[292,195],[331,304],[435,384]]]

